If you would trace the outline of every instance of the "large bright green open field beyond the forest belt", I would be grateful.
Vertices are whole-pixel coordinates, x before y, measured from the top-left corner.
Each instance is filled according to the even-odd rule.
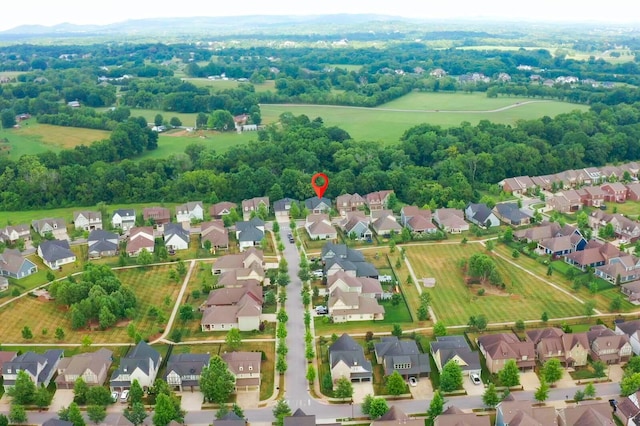
[[[514,124],[517,120],[545,115],[555,116],[575,109],[583,111],[588,109],[586,105],[545,101],[521,104],[504,111],[486,112],[525,101],[526,99],[522,98],[490,99],[480,93],[412,93],[377,108],[263,104],[261,112],[265,124],[277,121],[283,112],[292,112],[296,115],[306,114],[312,120],[316,117],[322,117],[327,126],[339,126],[349,132],[351,137],[356,140],[393,144],[407,129],[421,123],[444,127],[457,126],[463,121],[477,124],[480,120]],[[389,111],[385,108],[422,109],[434,112]],[[435,110],[440,112],[435,112]],[[444,112],[444,110],[454,112]]]

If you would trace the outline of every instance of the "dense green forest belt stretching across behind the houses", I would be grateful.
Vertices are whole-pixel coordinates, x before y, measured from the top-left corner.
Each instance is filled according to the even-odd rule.
[[[185,154],[134,161],[153,149],[139,119],[120,123],[109,140],[59,154],[0,159],[0,208],[22,210],[106,203],[240,201],[269,195],[312,196],[311,176],[328,174],[327,196],[394,189],[418,205],[479,198],[509,176],[640,159],[640,103],[594,105],[588,112],[506,126],[415,126],[397,145],[354,141],[321,118],[283,114],[258,140],[218,154],[193,144]]]

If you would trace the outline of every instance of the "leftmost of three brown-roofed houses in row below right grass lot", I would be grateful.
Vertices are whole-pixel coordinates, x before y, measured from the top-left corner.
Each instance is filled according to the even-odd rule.
[[[521,341],[515,333],[486,334],[478,337],[478,349],[486,359],[487,369],[492,374],[514,360],[523,371],[536,366],[536,352],[532,342]]]

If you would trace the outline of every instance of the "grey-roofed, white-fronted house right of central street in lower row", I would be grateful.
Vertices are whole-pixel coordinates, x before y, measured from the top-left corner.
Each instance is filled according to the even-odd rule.
[[[329,346],[329,368],[334,382],[341,377],[352,382],[373,381],[371,362],[365,358],[362,346],[346,333]]]

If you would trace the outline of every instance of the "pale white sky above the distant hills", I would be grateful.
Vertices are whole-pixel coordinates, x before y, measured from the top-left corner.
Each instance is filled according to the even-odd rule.
[[[638,6],[631,6],[633,3],[631,0],[31,0],[26,8],[12,2],[14,11],[5,10],[7,13],[0,14],[0,31],[19,25],[55,25],[63,22],[108,24],[128,19],[170,16],[328,13],[378,13],[434,19],[484,17],[500,20],[638,23]]]

